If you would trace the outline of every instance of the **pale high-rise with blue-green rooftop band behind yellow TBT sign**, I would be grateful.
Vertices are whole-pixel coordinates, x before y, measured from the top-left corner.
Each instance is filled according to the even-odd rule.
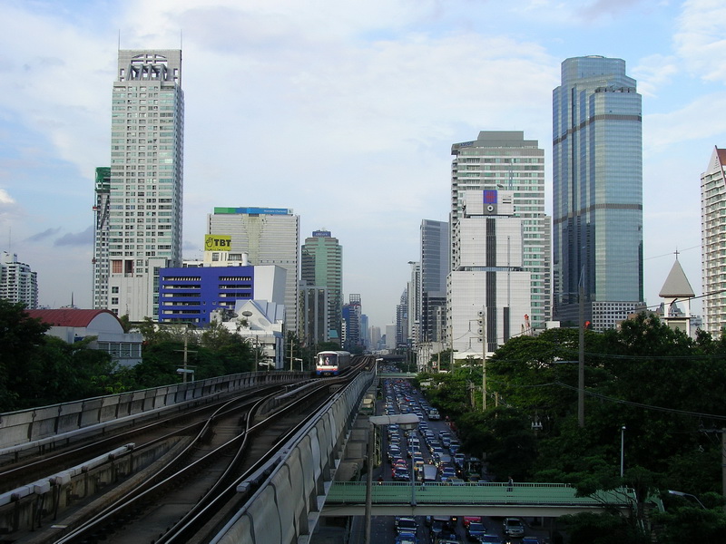
[[[215,208],[207,234],[231,237],[231,251],[246,253],[251,265],[278,265],[285,279],[285,329],[299,334],[299,224],[286,208]]]

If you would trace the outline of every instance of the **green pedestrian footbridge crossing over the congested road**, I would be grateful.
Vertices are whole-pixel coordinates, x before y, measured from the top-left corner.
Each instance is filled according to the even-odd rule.
[[[323,516],[362,516],[366,506],[366,482],[333,482],[321,512]],[[635,505],[632,489],[599,491],[577,496],[564,483],[459,483],[407,481],[374,482],[371,514],[374,516],[495,516],[558,517],[578,512],[622,510]]]

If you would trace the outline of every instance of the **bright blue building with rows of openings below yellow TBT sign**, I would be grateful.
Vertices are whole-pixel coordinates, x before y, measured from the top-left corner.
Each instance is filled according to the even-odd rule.
[[[162,268],[159,322],[210,324],[211,312],[231,313],[238,300],[254,298],[255,267]]]

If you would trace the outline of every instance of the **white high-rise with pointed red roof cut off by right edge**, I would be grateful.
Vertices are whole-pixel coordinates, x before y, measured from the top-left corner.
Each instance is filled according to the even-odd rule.
[[[726,326],[726,150],[714,148],[701,174],[703,329],[720,337]]]

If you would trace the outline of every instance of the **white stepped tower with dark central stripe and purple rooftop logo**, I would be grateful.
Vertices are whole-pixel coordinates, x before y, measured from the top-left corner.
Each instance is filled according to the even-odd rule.
[[[471,190],[463,197],[446,282],[447,344],[458,356],[481,358],[527,333],[532,273],[523,267],[524,227],[514,215],[513,191]]]

